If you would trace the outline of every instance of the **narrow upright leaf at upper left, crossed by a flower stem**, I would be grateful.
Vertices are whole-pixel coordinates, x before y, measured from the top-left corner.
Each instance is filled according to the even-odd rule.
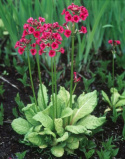
[[[47,95],[47,88],[44,84],[42,84],[42,89],[43,89],[43,96],[45,100],[45,104],[48,104],[48,95]],[[39,91],[38,91],[38,106],[40,107],[41,110],[44,110],[44,100],[42,96],[42,91],[41,91],[41,86],[39,85]]]

